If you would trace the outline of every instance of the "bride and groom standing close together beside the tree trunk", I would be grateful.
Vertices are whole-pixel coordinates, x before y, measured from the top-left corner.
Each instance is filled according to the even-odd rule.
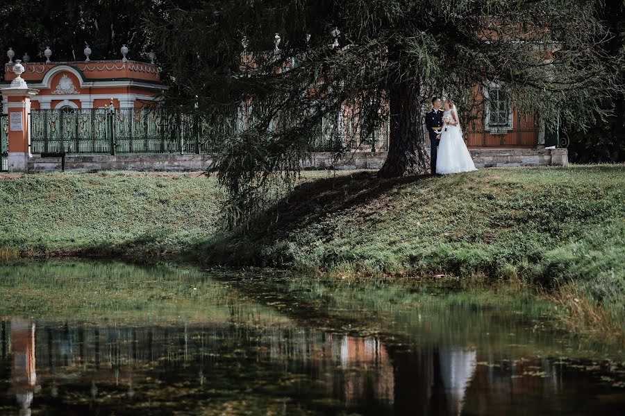
[[[453,101],[432,98],[432,110],[426,114],[426,127],[430,135],[430,168],[433,175],[476,170],[462,139],[460,118]]]

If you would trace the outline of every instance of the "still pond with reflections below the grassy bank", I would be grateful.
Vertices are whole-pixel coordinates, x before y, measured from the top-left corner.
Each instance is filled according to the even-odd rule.
[[[5,264],[0,414],[622,414],[622,347],[461,286]]]

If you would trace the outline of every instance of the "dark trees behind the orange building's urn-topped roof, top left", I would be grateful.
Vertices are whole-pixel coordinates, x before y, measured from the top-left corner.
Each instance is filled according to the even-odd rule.
[[[151,45],[142,19],[146,13],[158,15],[159,4],[158,0],[3,1],[0,59],[7,62],[5,53],[11,46],[15,59],[28,53],[32,62],[41,62],[50,46],[53,60],[84,60],[85,44],[92,49],[92,60],[121,58],[122,44],[130,49],[128,58],[146,59]]]

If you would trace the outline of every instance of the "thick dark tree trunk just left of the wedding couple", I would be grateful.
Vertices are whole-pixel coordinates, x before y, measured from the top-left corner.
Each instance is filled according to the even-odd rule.
[[[379,177],[401,177],[430,170],[430,156],[423,137],[419,83],[415,84],[403,81],[390,89],[390,143]]]

